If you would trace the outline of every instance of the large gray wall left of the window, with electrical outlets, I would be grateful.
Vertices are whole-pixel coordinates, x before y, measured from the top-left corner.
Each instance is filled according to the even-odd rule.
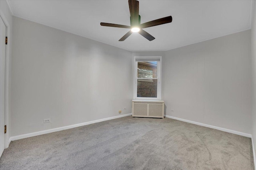
[[[13,37],[11,136],[131,113],[132,52],[17,17]]]

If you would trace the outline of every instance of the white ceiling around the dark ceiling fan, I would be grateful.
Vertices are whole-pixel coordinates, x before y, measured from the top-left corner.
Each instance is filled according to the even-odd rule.
[[[172,16],[172,23],[145,28],[148,41],[129,29],[128,0],[8,0],[14,16],[129,51],[164,51],[251,28],[252,0],[139,0],[141,23]]]

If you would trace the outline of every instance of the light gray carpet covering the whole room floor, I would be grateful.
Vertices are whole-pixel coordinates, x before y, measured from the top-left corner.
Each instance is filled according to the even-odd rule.
[[[122,117],[12,141],[1,170],[253,170],[251,139],[177,121]]]

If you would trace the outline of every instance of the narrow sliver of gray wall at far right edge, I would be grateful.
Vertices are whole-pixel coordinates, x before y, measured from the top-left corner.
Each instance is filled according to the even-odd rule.
[[[256,1],[254,1],[251,29],[251,51],[252,51],[252,137],[256,147]]]

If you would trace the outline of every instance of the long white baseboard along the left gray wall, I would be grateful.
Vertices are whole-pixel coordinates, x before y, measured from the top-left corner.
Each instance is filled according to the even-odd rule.
[[[69,125],[69,126],[58,127],[58,128],[54,128],[54,129],[48,129],[48,130],[44,130],[44,131],[27,133],[27,134],[24,134],[24,135],[17,135],[17,136],[10,137],[9,138],[9,143],[11,141],[15,141],[15,140],[18,140],[18,139],[24,139],[24,138],[27,138],[27,137],[33,137],[33,136],[43,135],[43,134],[46,134],[46,133],[62,131],[62,130],[71,129],[71,128],[74,128],[74,127],[89,125],[89,124],[98,123],[98,122],[101,122],[101,121],[116,119],[116,118],[130,116],[130,115],[132,115],[132,113],[128,113],[128,114],[125,114],[125,115],[118,115],[118,116],[114,116],[114,117],[108,117],[108,118],[104,118],[104,119],[98,119],[98,120],[94,120],[94,121],[88,121],[88,122],[84,122],[84,123],[78,123],[78,124],[75,124],[75,125]]]

